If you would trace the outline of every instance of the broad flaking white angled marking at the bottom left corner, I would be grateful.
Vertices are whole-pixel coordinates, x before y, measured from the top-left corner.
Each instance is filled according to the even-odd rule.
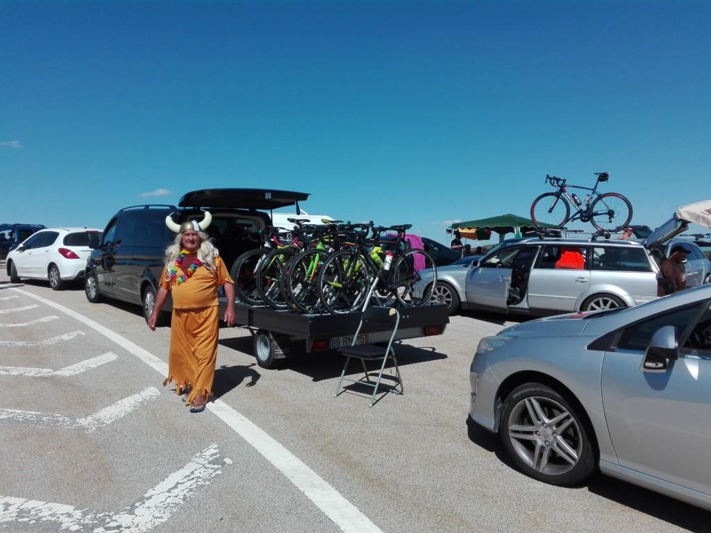
[[[223,473],[220,449],[213,444],[197,453],[183,468],[169,475],[127,509],[132,512],[87,512],[63,503],[41,502],[0,495],[0,524],[4,522],[54,522],[61,530],[94,533],[147,533],[167,522],[173,512]],[[225,464],[230,464],[224,458]]]

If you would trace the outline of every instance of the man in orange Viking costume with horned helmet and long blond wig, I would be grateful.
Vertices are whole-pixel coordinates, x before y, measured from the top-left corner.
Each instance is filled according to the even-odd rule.
[[[173,382],[176,394],[187,392],[185,403],[193,413],[204,411],[213,393],[220,325],[219,286],[224,287],[227,296],[225,323],[235,323],[235,282],[204,232],[211,220],[207,211],[201,222],[190,220],[181,225],[173,222],[171,215],[166,217],[166,225],[178,235],[166,249],[160,289],[148,319],[148,327],[155,330],[161,307],[171,294],[171,344],[168,377],[163,385]]]

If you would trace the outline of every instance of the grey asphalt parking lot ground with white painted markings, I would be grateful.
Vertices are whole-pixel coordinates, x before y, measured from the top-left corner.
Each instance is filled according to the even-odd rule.
[[[506,317],[455,316],[405,341],[405,394],[372,409],[357,391],[333,397],[340,357],[264,370],[250,333],[223,328],[215,402],[190,414],[161,384],[169,328],[139,312],[1,272],[0,529],[710,530],[709,513],[611,478],[538,483],[467,427],[471,356]]]

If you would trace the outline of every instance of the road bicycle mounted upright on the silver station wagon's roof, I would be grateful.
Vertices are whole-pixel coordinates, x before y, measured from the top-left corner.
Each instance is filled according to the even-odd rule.
[[[608,172],[596,172],[595,186],[567,185],[566,180],[557,176],[545,176],[545,183],[557,188],[555,193],[543,193],[531,204],[531,220],[538,227],[551,225],[554,229],[565,226],[567,222],[580,220],[590,222],[601,232],[615,232],[629,225],[632,220],[632,204],[619,193],[601,194],[597,185],[609,180]],[[569,188],[589,191],[581,200]],[[570,204],[577,211],[570,214]]]

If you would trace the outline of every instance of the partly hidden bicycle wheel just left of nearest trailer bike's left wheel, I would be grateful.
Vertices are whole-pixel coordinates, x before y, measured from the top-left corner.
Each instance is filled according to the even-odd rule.
[[[321,307],[319,298],[319,272],[329,252],[325,249],[309,249],[293,257],[282,276],[284,298],[292,308],[304,313],[313,313]]]

